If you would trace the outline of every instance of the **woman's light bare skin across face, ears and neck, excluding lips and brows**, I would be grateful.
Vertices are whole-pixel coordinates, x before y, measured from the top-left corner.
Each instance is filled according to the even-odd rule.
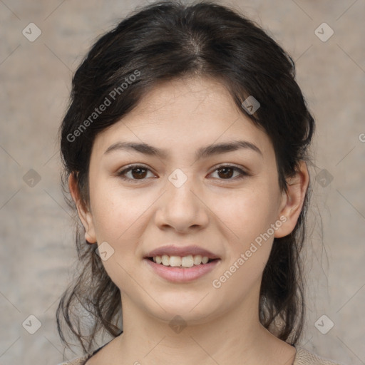
[[[250,148],[195,159],[198,148],[212,143],[248,141]],[[148,143],[165,157],[133,150],[106,150],[119,141]],[[118,172],[131,163],[143,165]],[[242,168],[222,171],[220,165]],[[187,181],[175,187],[168,177],[179,168]],[[108,242],[114,253],[103,265],[120,288],[123,334],[87,361],[120,364],[292,364],[295,349],[259,322],[262,272],[274,237],[294,229],[309,183],[299,165],[278,185],[269,137],[237,109],[226,88],[209,78],[161,83],[131,113],[96,136],[90,163],[90,204],[79,200],[73,175],[69,187],[88,242]],[[230,175],[230,173],[232,175]],[[280,217],[274,235],[217,289],[212,286],[245,253],[255,238]],[[143,257],[161,245],[198,245],[220,263],[194,282],[177,284],[155,274]],[[186,327],[175,333],[176,315]]]

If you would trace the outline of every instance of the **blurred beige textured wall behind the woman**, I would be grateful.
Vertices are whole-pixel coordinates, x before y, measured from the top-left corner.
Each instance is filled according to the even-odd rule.
[[[63,360],[55,311],[76,250],[59,186],[56,133],[81,58],[139,4],[145,2],[0,0],[1,365]],[[344,364],[365,364],[365,1],[227,4],[262,24],[297,61],[297,80],[317,120],[302,346]],[[34,42],[22,34],[31,22],[42,32]],[[314,33],[323,22],[334,31],[327,41]],[[30,169],[41,178],[34,187],[24,181]],[[316,180],[324,169],[324,180]],[[322,331],[334,322],[327,334],[314,326],[324,314]],[[41,322],[35,334],[26,331],[36,324],[29,315]]]

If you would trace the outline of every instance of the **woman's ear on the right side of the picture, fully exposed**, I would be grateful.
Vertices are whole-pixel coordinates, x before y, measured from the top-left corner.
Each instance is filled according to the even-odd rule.
[[[300,161],[297,173],[292,178],[287,178],[287,192],[282,193],[279,217],[284,222],[274,234],[274,237],[289,235],[302,212],[304,198],[309,186],[309,173],[305,161]],[[286,218],[286,220],[284,219]]]

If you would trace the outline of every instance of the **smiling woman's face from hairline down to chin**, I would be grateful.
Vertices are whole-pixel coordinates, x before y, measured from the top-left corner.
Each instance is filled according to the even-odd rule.
[[[79,215],[88,241],[107,252],[103,265],[122,303],[128,297],[165,321],[179,314],[198,323],[254,303],[273,239],[292,231],[301,207],[279,189],[266,133],[207,78],[156,86],[99,133],[89,187],[90,210]],[[293,217],[290,204],[299,207]],[[217,259],[168,268],[146,258],[167,246]]]

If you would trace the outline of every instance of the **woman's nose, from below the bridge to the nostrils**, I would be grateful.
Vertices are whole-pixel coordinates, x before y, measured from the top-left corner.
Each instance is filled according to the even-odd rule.
[[[194,186],[192,178],[180,187],[168,181],[167,190],[159,200],[155,223],[162,230],[171,227],[176,232],[200,230],[209,222],[209,208],[202,191]]]

